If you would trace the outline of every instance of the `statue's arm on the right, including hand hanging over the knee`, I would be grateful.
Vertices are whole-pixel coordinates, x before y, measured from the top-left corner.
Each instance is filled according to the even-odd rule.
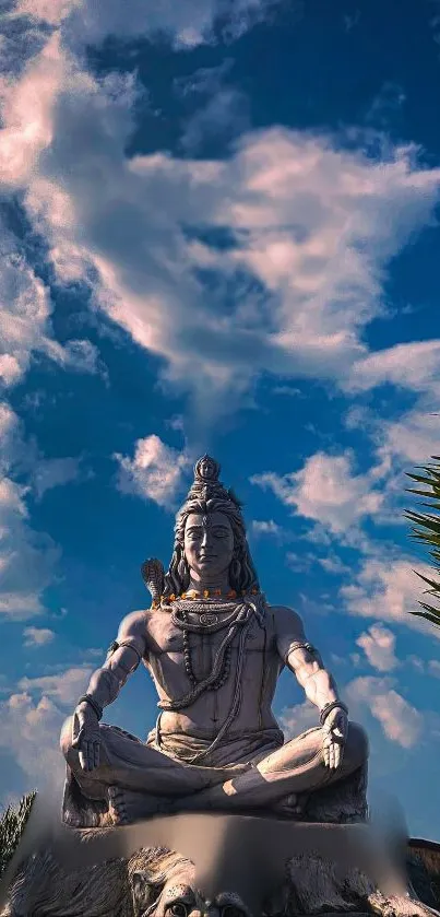
[[[278,654],[296,675],[308,699],[318,707],[324,732],[324,763],[336,768],[347,737],[348,710],[340,698],[333,675],[325,669],[318,650],[308,642],[299,614],[284,607],[273,608],[272,611]]]

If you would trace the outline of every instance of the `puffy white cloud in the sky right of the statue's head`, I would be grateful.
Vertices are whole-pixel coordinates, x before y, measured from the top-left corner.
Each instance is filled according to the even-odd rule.
[[[367,474],[353,473],[349,452],[341,456],[316,452],[300,471],[284,475],[266,472],[251,481],[270,487],[286,506],[328,527],[334,534],[364,516],[374,515],[383,499],[372,489]]]

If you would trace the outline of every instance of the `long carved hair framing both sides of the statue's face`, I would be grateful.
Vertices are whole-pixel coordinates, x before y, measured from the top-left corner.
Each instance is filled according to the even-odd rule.
[[[230,522],[234,534],[233,560],[229,566],[229,586],[237,593],[260,589],[255,568],[249,552],[245,521],[240,504],[231,492],[225,496],[218,494],[204,498],[189,494],[188,499],[176,516],[175,545],[168,572],[165,575],[164,597],[180,596],[190,585],[190,568],[185,556],[185,527],[193,513],[207,516],[210,513],[223,513]]]

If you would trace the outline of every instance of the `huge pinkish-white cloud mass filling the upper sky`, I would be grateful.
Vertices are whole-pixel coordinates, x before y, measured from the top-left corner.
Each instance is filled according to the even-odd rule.
[[[239,34],[273,5],[21,0],[16,9],[35,21],[62,22],[61,37],[55,30],[3,85],[4,174],[25,189],[59,283],[91,286],[94,304],[163,357],[165,380],[192,392],[210,422],[260,373],[344,385],[357,363],[376,384],[362,364],[364,328],[382,311],[388,260],[431,219],[439,196],[440,171],[421,166],[415,148],[384,146],[374,160],[360,133],[356,151],[346,138],[272,128],[242,136],[226,161],[127,160],[134,78],[86,73],[84,44],[162,31],[193,46],[212,40],[219,15]],[[231,246],[206,244],[206,228],[227,231]],[[8,350],[10,380],[22,372],[14,360]]]

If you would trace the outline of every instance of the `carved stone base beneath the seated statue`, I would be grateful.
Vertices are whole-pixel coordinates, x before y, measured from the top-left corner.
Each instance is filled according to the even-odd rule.
[[[72,830],[39,819],[45,834],[15,862],[1,917],[163,917],[179,887],[206,917],[227,904],[242,917],[440,917],[370,825],[188,814]]]

